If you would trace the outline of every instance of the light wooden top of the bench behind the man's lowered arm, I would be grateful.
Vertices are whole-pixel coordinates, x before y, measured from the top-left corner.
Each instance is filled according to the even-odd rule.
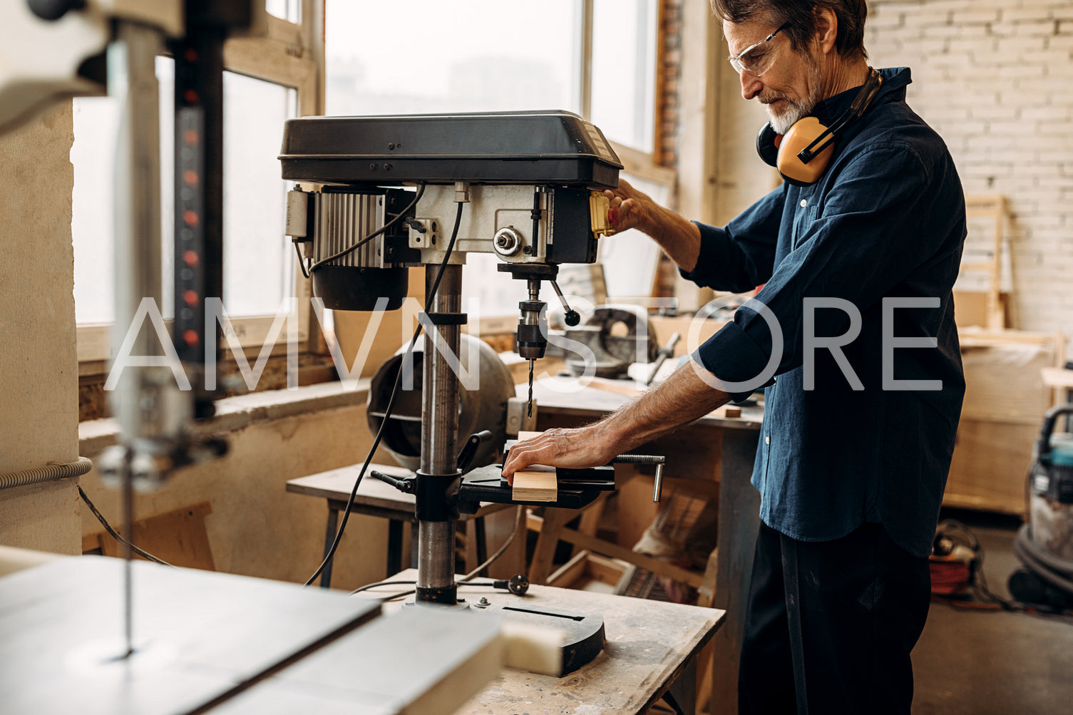
[[[628,384],[633,384],[627,381]],[[521,383],[515,388],[518,397],[526,397],[529,385]],[[582,385],[576,378],[543,378],[533,382],[533,398],[538,409],[553,415],[597,418],[614,412],[630,402],[630,397],[607,390]],[[693,424],[730,427],[733,429],[760,429],[764,419],[764,408],[751,406],[741,408],[741,417],[725,418],[706,414]]]

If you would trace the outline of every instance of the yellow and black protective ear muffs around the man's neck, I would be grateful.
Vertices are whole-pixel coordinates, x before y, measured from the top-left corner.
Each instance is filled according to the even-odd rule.
[[[771,122],[765,123],[756,134],[756,154],[764,163],[778,169],[782,178],[790,184],[815,184],[827,170],[838,132],[864,115],[882,85],[883,78],[879,72],[868,68],[868,79],[853,98],[850,108],[831,127],[825,127],[815,117],[803,117],[785,134],[777,134]]]

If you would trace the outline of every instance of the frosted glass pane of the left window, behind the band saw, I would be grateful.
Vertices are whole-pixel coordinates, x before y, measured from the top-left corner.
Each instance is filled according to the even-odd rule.
[[[160,82],[161,312],[172,316],[174,63],[157,59]],[[224,73],[224,308],[231,316],[273,315],[294,295],[292,248],[283,235],[284,181],[279,148],[283,121],[295,116],[296,92],[268,82]],[[75,318],[111,322],[113,230],[118,105],[111,98],[74,100],[72,235]]]

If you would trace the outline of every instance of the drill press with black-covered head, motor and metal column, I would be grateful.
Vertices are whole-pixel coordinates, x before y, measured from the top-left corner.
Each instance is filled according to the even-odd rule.
[[[455,519],[467,500],[451,365],[468,320],[461,266],[467,253],[491,253],[527,281],[517,338],[531,381],[547,342],[540,283],[554,284],[562,263],[596,261],[598,234],[611,232],[602,190],[622,165],[599,129],[568,112],[292,119],[280,161],[284,179],[322,186],[292,192],[288,225],[327,307],[398,307],[409,267],[425,266],[416,600],[454,604]]]

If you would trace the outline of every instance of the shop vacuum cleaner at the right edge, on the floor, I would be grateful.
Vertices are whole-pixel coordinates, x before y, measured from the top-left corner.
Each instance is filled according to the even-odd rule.
[[[1041,609],[1073,609],[1073,434],[1055,433],[1073,404],[1047,410],[1028,476],[1029,520],[1014,540],[1023,567],[1010,577],[1010,594]],[[1067,428],[1069,421],[1067,418]]]

